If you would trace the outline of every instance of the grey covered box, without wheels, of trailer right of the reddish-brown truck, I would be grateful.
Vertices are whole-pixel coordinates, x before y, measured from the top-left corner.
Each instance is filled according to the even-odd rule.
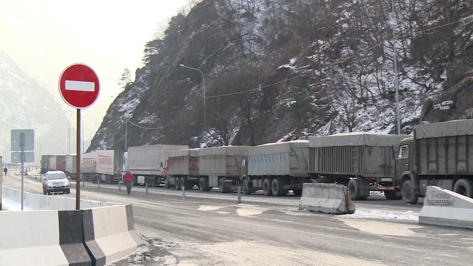
[[[239,163],[248,146],[222,146],[199,149],[199,175],[239,176]]]

